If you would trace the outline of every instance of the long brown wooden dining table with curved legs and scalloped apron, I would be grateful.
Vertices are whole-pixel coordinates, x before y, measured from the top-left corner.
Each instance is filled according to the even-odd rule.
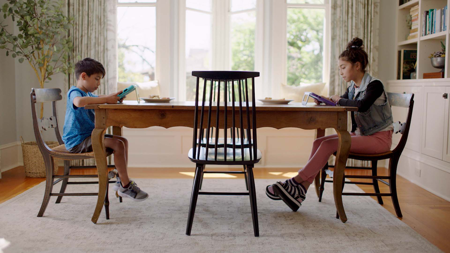
[[[325,128],[334,128],[336,130],[339,144],[333,173],[333,195],[339,218],[342,222],[346,222],[347,216],[342,204],[342,178],[351,144],[350,133],[347,131],[347,112],[357,111],[358,108],[316,105],[313,103],[303,105],[302,103],[293,102],[289,104],[262,104],[257,102],[255,106],[257,112],[256,127],[316,129],[316,137],[324,136]],[[227,107],[231,110],[231,106]],[[92,148],[99,175],[99,194],[91,221],[97,223],[108,187],[108,167],[103,143],[106,129],[112,127],[112,134],[121,136],[121,127],[193,127],[195,104],[193,101],[170,103],[141,102],[139,104],[137,101],[125,100],[118,104],[90,104],[86,105],[85,108],[95,110]],[[214,107],[214,110],[216,110],[216,107]],[[220,105],[219,113],[223,113],[223,111],[225,111],[225,106]],[[213,111],[211,115],[216,115],[216,113]],[[231,113],[228,113],[228,115],[231,115]],[[245,118],[243,117],[244,121]],[[200,120],[200,117],[198,117],[198,120]],[[245,124],[246,122],[244,122]],[[319,194],[319,174],[315,177],[317,194]]]

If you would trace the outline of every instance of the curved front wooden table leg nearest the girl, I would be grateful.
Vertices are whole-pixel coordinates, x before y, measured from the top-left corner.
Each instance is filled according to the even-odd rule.
[[[333,172],[333,195],[336,210],[342,222],[347,221],[344,205],[342,204],[342,179],[344,178],[345,165],[347,163],[348,153],[350,151],[351,138],[347,130],[337,130],[339,137],[338,153],[336,154],[336,162],[334,163]]]

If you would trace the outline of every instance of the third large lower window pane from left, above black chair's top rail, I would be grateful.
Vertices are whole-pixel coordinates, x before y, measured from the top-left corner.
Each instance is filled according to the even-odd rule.
[[[231,70],[255,69],[255,11],[233,14],[230,17]]]

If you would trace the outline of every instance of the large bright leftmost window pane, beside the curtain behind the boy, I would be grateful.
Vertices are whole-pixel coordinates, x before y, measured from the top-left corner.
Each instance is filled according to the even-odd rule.
[[[154,80],[156,7],[117,7],[117,49],[118,81]]]

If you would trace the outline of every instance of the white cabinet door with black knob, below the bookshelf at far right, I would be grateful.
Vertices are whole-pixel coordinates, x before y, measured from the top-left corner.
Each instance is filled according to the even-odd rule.
[[[448,110],[446,110],[448,99],[443,98],[446,89],[448,87],[445,86],[423,88],[422,154],[437,159],[442,159],[444,119],[448,118]]]

